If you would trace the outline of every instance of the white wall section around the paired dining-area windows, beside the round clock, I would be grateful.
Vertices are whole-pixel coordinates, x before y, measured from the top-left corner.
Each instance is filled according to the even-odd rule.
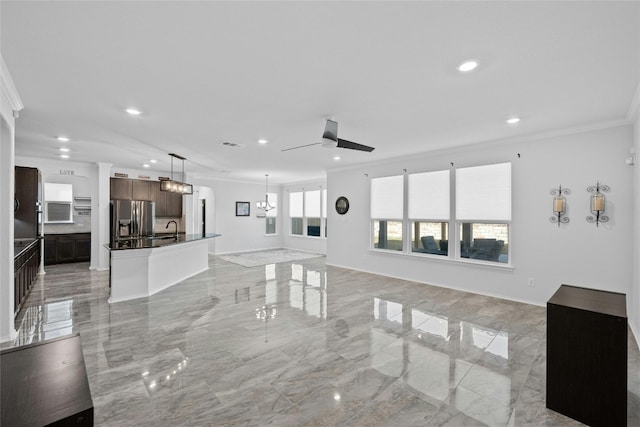
[[[304,190],[322,190],[325,188],[327,188],[326,181],[309,181],[282,186],[282,202],[280,203],[282,206],[282,210],[280,211],[280,218],[282,220],[280,228],[280,231],[282,231],[282,247],[316,254],[327,253],[327,239],[324,237],[291,235],[291,219],[289,218],[289,193]],[[332,200],[328,196],[327,199],[329,201]],[[335,202],[335,199],[333,199],[333,201]],[[329,206],[333,206],[333,202],[328,203]],[[331,229],[327,227],[327,234],[331,235],[331,232]]]

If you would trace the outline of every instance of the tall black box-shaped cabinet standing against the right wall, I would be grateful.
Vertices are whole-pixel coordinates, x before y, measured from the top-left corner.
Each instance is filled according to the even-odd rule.
[[[547,408],[627,425],[625,294],[562,285],[547,302]]]

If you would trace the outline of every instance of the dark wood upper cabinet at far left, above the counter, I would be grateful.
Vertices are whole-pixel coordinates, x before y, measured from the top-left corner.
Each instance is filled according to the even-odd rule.
[[[40,235],[42,221],[42,175],[36,168],[15,167],[14,228],[16,239]]]

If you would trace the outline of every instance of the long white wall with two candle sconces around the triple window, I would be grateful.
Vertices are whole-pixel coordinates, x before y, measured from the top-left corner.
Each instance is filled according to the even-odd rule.
[[[346,196],[350,210],[329,210],[327,263],[543,305],[561,284],[629,294],[632,282],[633,168],[625,165],[633,143],[631,126],[465,147],[385,164],[328,173],[329,200]],[[517,154],[521,157],[518,158]],[[512,269],[469,265],[369,250],[371,177],[495,162],[512,162]],[[365,176],[368,174],[369,176]],[[586,188],[600,181],[610,221],[588,223]],[[552,215],[550,190],[569,188],[568,216],[560,228]],[[527,285],[528,278],[535,286]],[[631,300],[627,299],[630,306]],[[630,312],[636,315],[637,305]]]

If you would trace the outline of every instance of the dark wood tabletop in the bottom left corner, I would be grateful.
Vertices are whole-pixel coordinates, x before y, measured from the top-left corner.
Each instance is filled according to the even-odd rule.
[[[0,352],[3,426],[93,426],[80,336]]]

